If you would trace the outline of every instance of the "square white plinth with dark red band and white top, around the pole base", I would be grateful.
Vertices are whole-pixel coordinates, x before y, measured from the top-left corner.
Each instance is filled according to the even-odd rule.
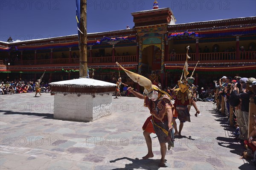
[[[50,85],[55,119],[88,122],[111,114],[116,84],[80,78]]]

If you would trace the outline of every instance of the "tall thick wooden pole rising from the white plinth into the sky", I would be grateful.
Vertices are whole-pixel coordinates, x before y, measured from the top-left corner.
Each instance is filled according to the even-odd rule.
[[[79,77],[87,77],[87,0],[80,2]]]

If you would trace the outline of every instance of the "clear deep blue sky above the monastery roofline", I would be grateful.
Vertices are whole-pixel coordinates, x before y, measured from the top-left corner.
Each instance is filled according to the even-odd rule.
[[[256,16],[256,0],[157,0],[176,23]],[[134,26],[132,12],[152,9],[154,0],[87,0],[87,33]],[[75,0],[0,0],[0,41],[77,34]]]

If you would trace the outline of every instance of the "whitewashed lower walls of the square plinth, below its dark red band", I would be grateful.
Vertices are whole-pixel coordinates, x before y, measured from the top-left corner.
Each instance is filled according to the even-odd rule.
[[[54,118],[88,122],[111,115],[112,93],[102,95],[55,94]]]

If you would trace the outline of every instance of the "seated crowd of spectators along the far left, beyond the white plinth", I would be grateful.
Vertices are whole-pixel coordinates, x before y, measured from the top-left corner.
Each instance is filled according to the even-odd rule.
[[[35,81],[34,80],[14,80],[3,82],[0,80],[0,95],[3,94],[21,94],[21,93],[34,93],[35,92]],[[41,82],[41,93],[49,93],[50,86],[48,83]]]

